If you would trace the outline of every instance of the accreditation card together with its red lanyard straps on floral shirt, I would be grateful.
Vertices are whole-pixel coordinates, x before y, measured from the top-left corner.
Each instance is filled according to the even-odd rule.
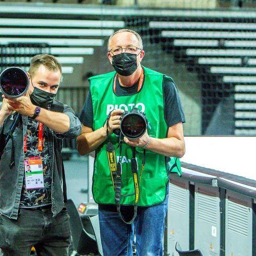
[[[38,151],[42,151],[43,124],[38,124]],[[24,140],[24,152],[27,152],[27,134]],[[24,161],[26,189],[44,188],[42,159]]]

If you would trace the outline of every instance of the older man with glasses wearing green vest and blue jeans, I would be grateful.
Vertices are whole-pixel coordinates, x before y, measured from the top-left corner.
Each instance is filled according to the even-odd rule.
[[[89,79],[80,116],[78,152],[96,151],[93,196],[104,255],[133,255],[134,234],[137,255],[163,254],[169,166],[180,172],[177,159],[185,153],[185,118],[174,81],[142,67],[143,57],[135,31],[110,36],[108,58],[115,72]],[[145,113],[147,130],[120,143],[114,130],[120,129],[124,111],[134,108]]]

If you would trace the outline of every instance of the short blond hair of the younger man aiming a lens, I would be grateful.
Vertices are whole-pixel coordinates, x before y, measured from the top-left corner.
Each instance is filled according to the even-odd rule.
[[[46,69],[54,72],[60,72],[62,74],[61,65],[58,60],[50,54],[38,54],[35,55],[30,61],[29,74],[33,74],[40,66],[44,66]]]

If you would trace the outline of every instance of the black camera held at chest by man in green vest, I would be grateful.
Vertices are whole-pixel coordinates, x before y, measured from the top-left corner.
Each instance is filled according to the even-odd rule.
[[[144,112],[138,108],[133,108],[130,112],[124,111],[121,114],[120,129],[115,129],[114,134],[135,140],[139,139],[146,131],[147,118]]]

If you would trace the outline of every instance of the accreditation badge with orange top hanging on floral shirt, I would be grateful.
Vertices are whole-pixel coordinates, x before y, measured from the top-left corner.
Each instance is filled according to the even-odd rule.
[[[44,188],[42,159],[25,160],[24,167],[26,189]]]

